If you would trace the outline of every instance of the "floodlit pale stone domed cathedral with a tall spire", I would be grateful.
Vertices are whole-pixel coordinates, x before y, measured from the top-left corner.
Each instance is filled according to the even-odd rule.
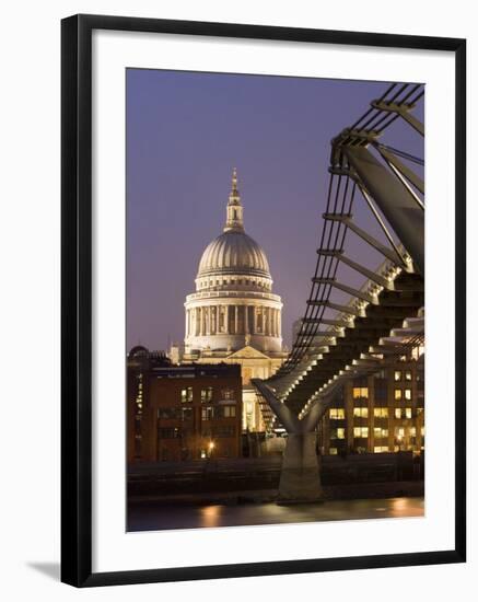
[[[272,292],[264,250],[245,232],[235,169],[223,232],[205,248],[195,283],[186,297],[184,350],[177,359],[241,364],[243,429],[264,430],[250,379],[267,379],[288,355],[282,301]]]

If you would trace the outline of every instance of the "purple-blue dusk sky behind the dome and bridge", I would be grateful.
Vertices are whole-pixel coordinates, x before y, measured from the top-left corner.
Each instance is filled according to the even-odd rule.
[[[233,166],[245,229],[268,256],[290,345],[316,262],[330,139],[387,85],[127,70],[128,349],[183,340],[183,303],[203,248],[222,232]],[[387,143],[423,157],[408,126],[390,130]],[[357,219],[369,219],[363,202]],[[354,255],[366,252],[357,246]]]

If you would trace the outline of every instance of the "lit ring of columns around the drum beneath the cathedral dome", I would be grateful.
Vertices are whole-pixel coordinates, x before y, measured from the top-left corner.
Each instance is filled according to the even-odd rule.
[[[186,310],[186,336],[266,335],[281,336],[281,312],[252,304],[202,305]]]

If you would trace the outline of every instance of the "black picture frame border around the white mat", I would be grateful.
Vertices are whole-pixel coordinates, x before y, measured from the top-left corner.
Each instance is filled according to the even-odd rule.
[[[92,572],[92,32],[172,33],[453,53],[455,82],[455,547],[359,557]],[[466,559],[466,42],[292,27],[74,15],[61,22],[61,580],[75,587],[463,563]]]

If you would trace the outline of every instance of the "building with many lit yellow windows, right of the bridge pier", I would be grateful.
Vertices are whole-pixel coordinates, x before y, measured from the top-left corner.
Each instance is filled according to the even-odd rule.
[[[320,453],[421,453],[423,377],[423,357],[404,357],[374,375],[351,380],[320,421]]]

